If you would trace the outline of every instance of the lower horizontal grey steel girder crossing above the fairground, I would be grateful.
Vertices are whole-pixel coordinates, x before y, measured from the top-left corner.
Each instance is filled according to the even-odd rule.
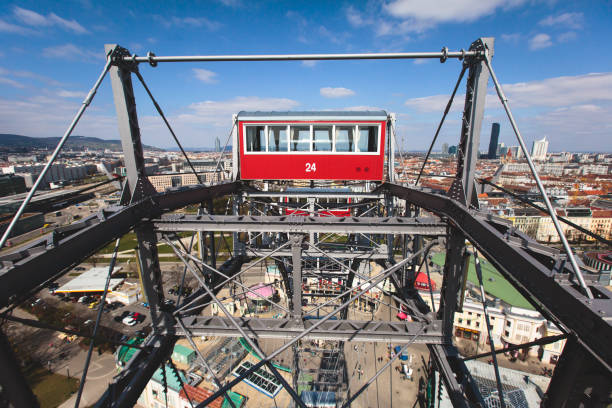
[[[264,319],[240,318],[238,322],[252,338],[287,339],[291,340],[316,323],[316,319]],[[183,319],[185,329],[192,336],[236,336],[236,329],[230,321],[220,316],[192,316]],[[412,336],[418,336],[415,343],[445,344],[440,330],[441,322],[434,320],[422,322],[386,322],[374,320],[328,320],[317,327],[303,339],[305,340],[340,340],[340,341],[372,341],[393,342],[404,344]],[[175,333],[185,336],[180,326],[175,327]]]

